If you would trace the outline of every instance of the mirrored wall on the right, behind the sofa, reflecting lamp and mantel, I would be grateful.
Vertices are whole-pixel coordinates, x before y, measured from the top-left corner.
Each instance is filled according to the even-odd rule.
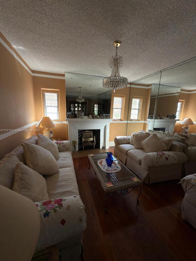
[[[142,118],[148,122],[146,130],[156,129],[157,122],[159,127],[166,126],[165,122],[168,121],[170,125],[173,124],[173,128],[166,128],[166,131],[172,132],[175,129],[175,131],[181,132],[180,122],[184,118],[190,117],[196,122],[196,58],[132,82],[130,93],[134,92],[134,88],[137,86],[151,89],[149,108],[146,107],[148,113],[145,115],[146,118]],[[130,95],[130,98],[132,96]],[[131,110],[131,100],[129,111]],[[179,102],[181,108],[178,107]],[[127,122],[129,121],[130,115],[127,118]],[[193,130],[193,132],[196,131]],[[130,133],[128,127],[127,133]]]

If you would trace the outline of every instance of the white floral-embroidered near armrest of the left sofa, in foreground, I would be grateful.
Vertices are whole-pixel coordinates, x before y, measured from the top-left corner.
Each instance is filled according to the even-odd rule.
[[[35,202],[40,214],[36,251],[56,244],[86,228],[86,214],[80,196]]]

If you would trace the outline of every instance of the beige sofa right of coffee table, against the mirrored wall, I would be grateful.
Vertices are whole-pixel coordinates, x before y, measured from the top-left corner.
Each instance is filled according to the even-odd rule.
[[[188,147],[179,142],[178,137],[167,136],[168,134],[164,132],[140,131],[132,133],[131,136],[115,137],[114,155],[145,184],[180,180],[183,164],[188,159],[183,150],[188,150]],[[184,143],[185,140],[182,138]]]

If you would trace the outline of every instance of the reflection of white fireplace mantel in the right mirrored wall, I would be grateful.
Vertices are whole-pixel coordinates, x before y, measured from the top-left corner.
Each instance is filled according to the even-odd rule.
[[[148,121],[148,130],[153,129],[153,121],[154,120],[147,120]],[[163,120],[155,120],[154,122],[154,128],[166,128],[165,131],[170,132],[171,134],[174,133],[174,127],[175,127],[176,120],[172,119],[163,119]]]

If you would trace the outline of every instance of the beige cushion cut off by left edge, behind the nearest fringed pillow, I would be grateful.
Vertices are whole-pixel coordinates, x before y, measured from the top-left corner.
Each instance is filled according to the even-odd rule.
[[[15,154],[7,155],[0,161],[0,185],[12,189],[15,166],[20,160]]]

